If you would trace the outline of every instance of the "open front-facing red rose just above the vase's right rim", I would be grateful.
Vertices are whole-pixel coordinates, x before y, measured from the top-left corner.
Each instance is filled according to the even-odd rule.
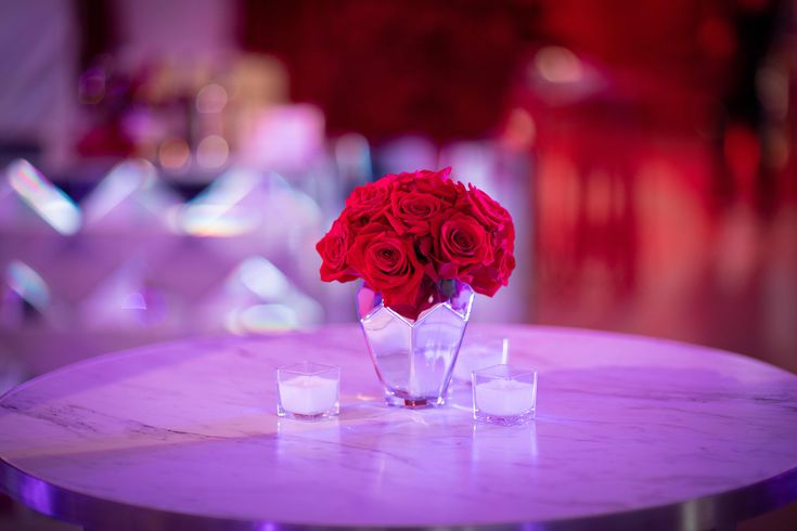
[[[492,261],[492,245],[484,225],[475,218],[462,212],[448,215],[438,220],[439,235],[435,252],[442,279],[452,279],[466,266],[488,264]]]

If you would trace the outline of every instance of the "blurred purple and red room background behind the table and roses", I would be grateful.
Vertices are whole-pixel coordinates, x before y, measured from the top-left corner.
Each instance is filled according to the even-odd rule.
[[[0,391],[353,322],[314,243],[352,187],[445,166],[517,225],[474,321],[797,372],[790,1],[7,1],[0,50]]]

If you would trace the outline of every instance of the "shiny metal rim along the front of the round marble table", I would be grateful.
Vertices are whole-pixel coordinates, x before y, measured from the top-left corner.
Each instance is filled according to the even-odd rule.
[[[38,513],[83,526],[86,529],[195,529],[197,531],[339,531],[344,529],[584,531],[594,529],[661,529],[687,531],[732,524],[797,501],[797,467],[733,491],[628,511],[603,513],[573,519],[434,526],[319,524],[179,513],[106,500],[59,487],[30,476],[1,457],[0,491]],[[120,527],[121,522],[125,522],[123,527]]]

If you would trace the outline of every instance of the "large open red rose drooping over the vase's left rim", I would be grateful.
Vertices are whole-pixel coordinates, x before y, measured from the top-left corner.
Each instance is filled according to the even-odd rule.
[[[385,306],[415,306],[424,276],[413,238],[399,236],[388,225],[370,223],[349,249],[349,263],[365,284],[382,294]]]

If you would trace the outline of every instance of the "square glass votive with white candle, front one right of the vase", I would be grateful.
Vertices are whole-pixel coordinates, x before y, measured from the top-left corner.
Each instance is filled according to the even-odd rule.
[[[530,420],[537,406],[537,371],[506,364],[474,371],[473,417],[514,426]]]

